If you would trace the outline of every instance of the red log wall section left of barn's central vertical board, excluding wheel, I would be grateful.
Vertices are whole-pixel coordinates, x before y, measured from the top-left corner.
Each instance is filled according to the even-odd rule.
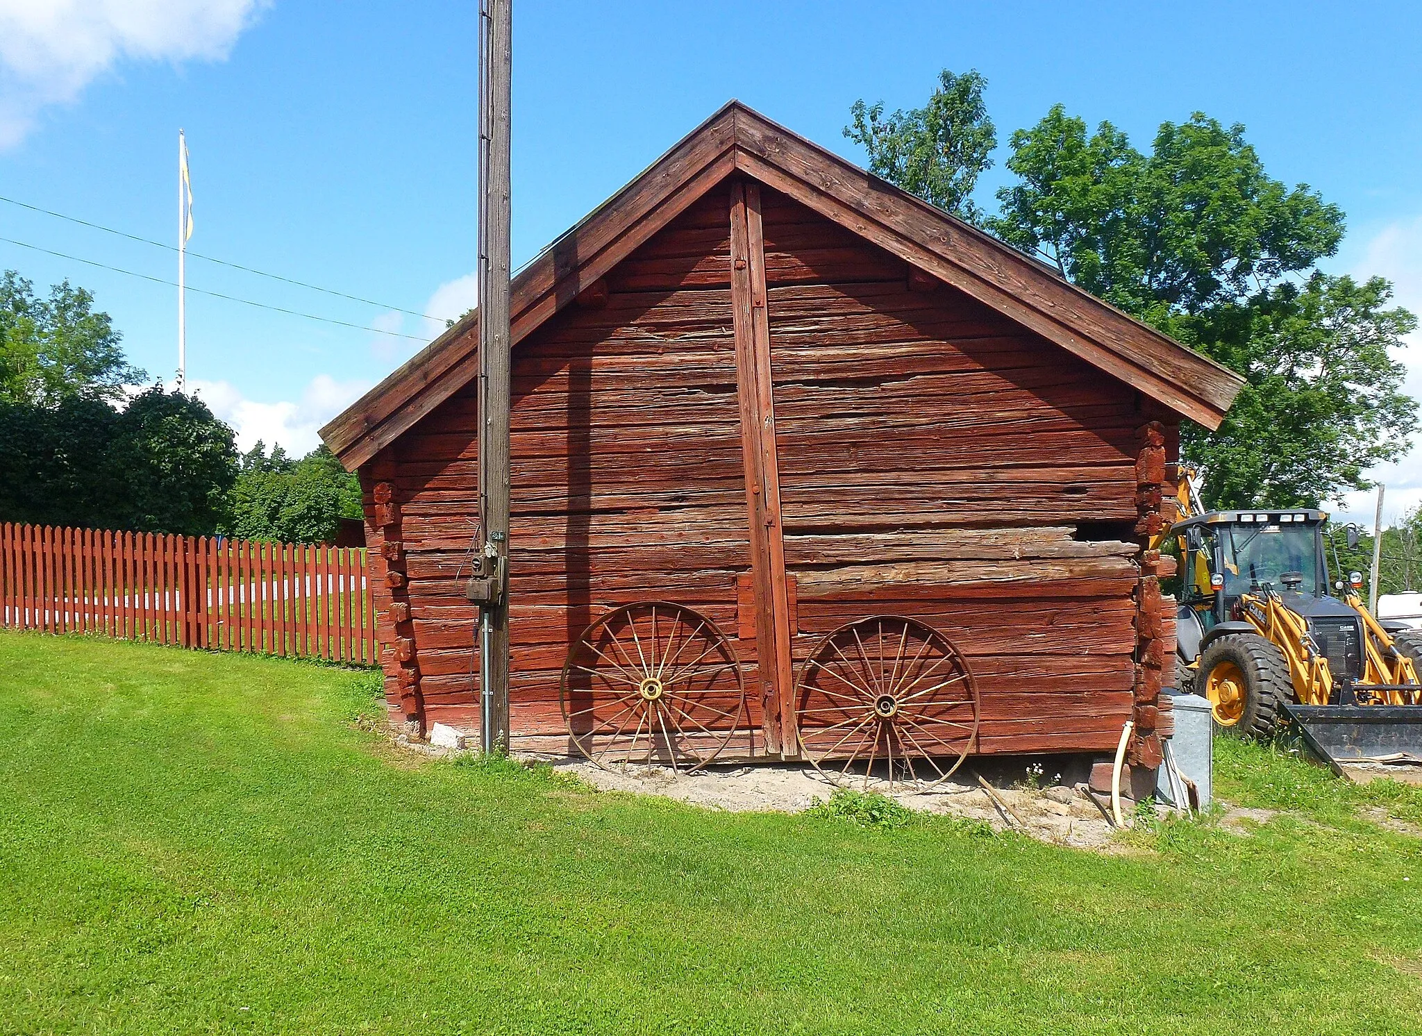
[[[557,702],[567,645],[607,608],[671,600],[737,637],[749,547],[727,207],[725,189],[711,192],[513,357],[515,749],[567,750]],[[391,448],[427,728],[478,725],[475,608],[462,591],[481,541],[476,422],[468,387]],[[754,638],[735,648],[754,672]],[[392,655],[387,674],[398,694]],[[752,702],[747,738],[759,723]]]

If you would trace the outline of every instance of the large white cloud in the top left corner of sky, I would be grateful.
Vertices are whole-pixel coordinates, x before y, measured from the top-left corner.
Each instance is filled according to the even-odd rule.
[[[270,0],[0,0],[0,148],[115,64],[220,61]]]

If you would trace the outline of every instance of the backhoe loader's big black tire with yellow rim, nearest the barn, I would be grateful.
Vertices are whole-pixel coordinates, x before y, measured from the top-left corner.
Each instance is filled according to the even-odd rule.
[[[1210,699],[1214,722],[1236,738],[1270,740],[1280,703],[1293,701],[1288,662],[1258,634],[1229,634],[1200,655],[1196,691]]]

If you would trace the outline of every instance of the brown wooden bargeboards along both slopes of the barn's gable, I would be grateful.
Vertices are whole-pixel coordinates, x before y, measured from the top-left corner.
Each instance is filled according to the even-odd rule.
[[[774,188],[1207,428],[1219,425],[1243,384],[1048,267],[735,101],[515,279],[513,344],[579,294],[600,290],[600,279],[732,172]],[[475,377],[476,321],[476,314],[465,317],[321,429],[348,468],[373,458]]]

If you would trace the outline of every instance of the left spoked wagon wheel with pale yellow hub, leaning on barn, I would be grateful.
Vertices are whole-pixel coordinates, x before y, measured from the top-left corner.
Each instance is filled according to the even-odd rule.
[[[680,604],[626,604],[569,648],[560,688],[567,733],[604,769],[697,770],[745,726],[745,686],[715,622]]]

